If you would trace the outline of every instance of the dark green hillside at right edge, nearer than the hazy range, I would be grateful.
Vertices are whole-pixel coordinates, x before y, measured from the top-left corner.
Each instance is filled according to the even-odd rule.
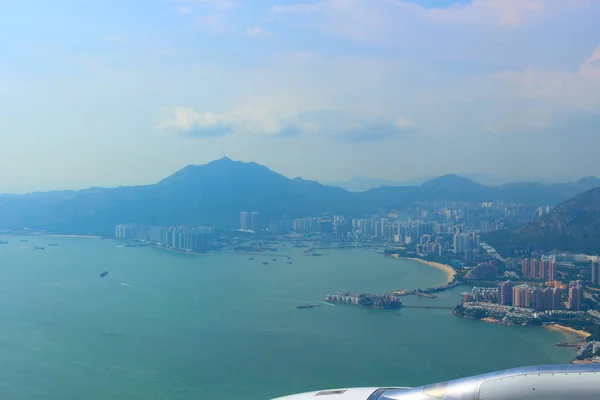
[[[536,221],[495,232],[486,240],[501,254],[510,254],[511,248],[600,254],[600,187],[560,204]]]

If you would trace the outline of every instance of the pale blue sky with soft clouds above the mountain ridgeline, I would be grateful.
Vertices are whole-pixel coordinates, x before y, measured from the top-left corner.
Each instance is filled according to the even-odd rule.
[[[288,177],[600,176],[597,0],[19,0],[0,192]]]

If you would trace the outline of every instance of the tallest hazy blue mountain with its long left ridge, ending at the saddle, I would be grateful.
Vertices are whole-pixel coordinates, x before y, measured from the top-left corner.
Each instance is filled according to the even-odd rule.
[[[237,228],[244,210],[270,220],[350,213],[354,206],[352,194],[341,188],[223,158],[187,166],[153,185],[2,195],[0,225],[98,235],[111,235],[115,225],[129,222]]]

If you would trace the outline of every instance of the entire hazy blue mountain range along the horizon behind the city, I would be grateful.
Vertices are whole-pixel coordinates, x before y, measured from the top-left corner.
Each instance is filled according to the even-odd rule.
[[[357,193],[300,178],[288,179],[256,163],[222,158],[187,166],[153,185],[0,195],[0,228],[103,236],[113,235],[119,223],[231,229],[239,227],[240,211],[258,211],[261,220],[268,222],[325,212],[364,216],[414,201],[502,200],[554,205],[596,186],[600,186],[600,180],[586,178],[554,185],[492,187],[444,175],[418,186],[380,187]]]

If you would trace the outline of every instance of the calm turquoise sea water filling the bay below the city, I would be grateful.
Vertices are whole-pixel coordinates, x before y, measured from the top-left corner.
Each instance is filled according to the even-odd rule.
[[[568,362],[565,334],[449,310],[296,309],[334,291],[427,287],[445,274],[374,251],[192,256],[79,238],[0,245],[0,398],[244,399],[419,385]],[[58,243],[58,247],[48,247]],[[34,250],[34,245],[46,249]],[[269,265],[262,265],[268,260]],[[108,270],[101,279],[99,273]],[[409,304],[454,305],[466,288]]]

